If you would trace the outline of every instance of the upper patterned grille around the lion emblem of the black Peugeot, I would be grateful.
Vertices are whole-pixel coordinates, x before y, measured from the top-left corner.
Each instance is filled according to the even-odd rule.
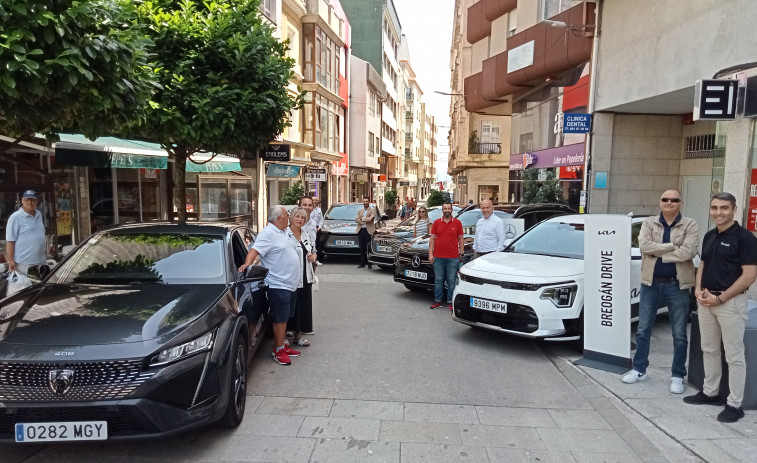
[[[72,370],[71,386],[58,394],[50,372]],[[0,401],[70,402],[123,399],[155,371],[142,371],[142,360],[109,362],[0,362]]]

